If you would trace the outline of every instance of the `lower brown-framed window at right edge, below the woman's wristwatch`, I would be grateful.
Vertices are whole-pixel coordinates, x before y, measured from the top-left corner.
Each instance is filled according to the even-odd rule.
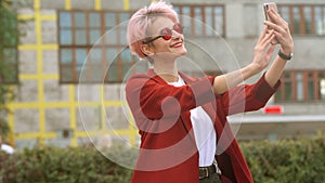
[[[313,102],[325,100],[325,70],[285,71],[276,102]]]

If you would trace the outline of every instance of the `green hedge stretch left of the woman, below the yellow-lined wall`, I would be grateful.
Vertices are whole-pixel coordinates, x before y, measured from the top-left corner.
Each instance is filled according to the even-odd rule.
[[[25,149],[0,160],[3,183],[127,183],[131,177],[93,147]]]

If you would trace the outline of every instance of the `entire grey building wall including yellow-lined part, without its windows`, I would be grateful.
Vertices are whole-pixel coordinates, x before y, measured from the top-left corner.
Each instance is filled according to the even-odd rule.
[[[301,3],[306,1],[300,0]],[[299,1],[299,2],[300,2]],[[138,141],[120,84],[60,84],[56,10],[136,10],[148,0],[28,0],[18,11],[24,21],[20,50],[20,81],[13,87],[17,96],[9,104],[8,119],[13,129],[12,143],[17,147],[36,144],[73,145],[88,143],[88,136],[106,133]],[[172,3],[182,4],[181,0]],[[197,39],[190,57],[200,68],[231,71],[250,63],[257,37],[263,27],[262,2],[259,0],[187,0],[186,3],[225,4],[226,38]],[[278,1],[297,3],[298,1]],[[324,3],[313,0],[314,3]],[[308,1],[308,3],[311,3]],[[295,57],[287,69],[325,69],[325,38],[294,37]],[[190,48],[191,49],[191,48]],[[204,52],[203,52],[204,51]],[[207,56],[206,53],[209,53]],[[198,61],[196,61],[198,60]],[[182,64],[181,64],[182,65]],[[191,68],[184,68],[191,69]],[[253,82],[255,77],[249,82]],[[272,105],[272,100],[270,105]],[[323,103],[281,104],[286,115],[325,112]],[[263,116],[261,112],[251,115]],[[114,129],[114,130],[112,130]],[[118,139],[117,138],[117,139]],[[96,138],[91,138],[96,141]]]

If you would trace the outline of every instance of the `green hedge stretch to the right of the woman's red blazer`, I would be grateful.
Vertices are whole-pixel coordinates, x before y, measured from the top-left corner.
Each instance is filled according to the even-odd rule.
[[[257,183],[324,183],[325,136],[240,143]]]

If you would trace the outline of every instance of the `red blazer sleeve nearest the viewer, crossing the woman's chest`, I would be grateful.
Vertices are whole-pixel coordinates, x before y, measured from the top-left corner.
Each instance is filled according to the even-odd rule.
[[[204,77],[190,84],[173,87],[158,76],[135,75],[127,82],[126,95],[133,114],[160,119],[216,100],[212,82],[213,77]]]

